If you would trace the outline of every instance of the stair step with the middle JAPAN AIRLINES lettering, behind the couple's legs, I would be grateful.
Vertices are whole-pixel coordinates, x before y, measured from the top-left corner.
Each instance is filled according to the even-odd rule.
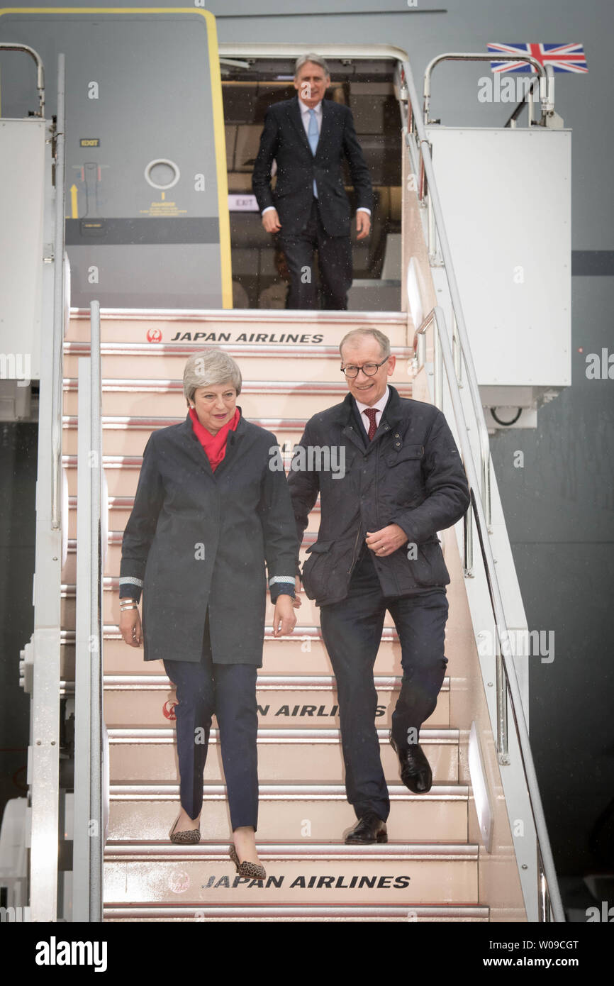
[[[375,723],[389,728],[400,688],[398,676],[375,676]],[[449,684],[448,684],[449,689]],[[441,691],[429,726],[449,726],[448,689]],[[269,728],[291,721],[302,728],[339,725],[336,682],[332,675],[258,674],[256,682],[258,723]],[[104,675],[104,719],[107,727],[159,727],[174,722],[174,687],[165,674]]]

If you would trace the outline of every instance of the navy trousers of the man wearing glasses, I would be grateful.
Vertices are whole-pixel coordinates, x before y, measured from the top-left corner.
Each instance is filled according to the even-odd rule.
[[[403,669],[391,732],[398,748],[406,749],[418,741],[422,724],[437,705],[447,665],[447,608],[443,587],[419,589],[399,599],[382,596],[373,553],[366,545],[347,598],[320,607],[322,638],[337,681],[346,793],[359,818],[375,811],[385,821],[390,810],[375,726],[374,684],[386,609],[399,635]]]

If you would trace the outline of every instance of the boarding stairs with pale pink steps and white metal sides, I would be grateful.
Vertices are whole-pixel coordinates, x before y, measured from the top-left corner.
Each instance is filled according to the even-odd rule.
[[[400,65],[398,78],[404,135],[398,313],[103,309],[99,319],[96,301],[90,311],[69,310],[63,88],[60,55],[57,125],[44,121],[41,95],[35,124],[46,225],[43,239],[41,201],[31,257],[43,315],[34,634],[20,666],[31,696],[30,793],[12,803],[27,862],[9,867],[10,879],[0,875],[13,894],[9,903],[25,902],[28,882],[34,921],[564,920],[525,722],[527,662],[516,661],[508,642],[508,628],[525,632],[526,621],[409,64]],[[22,144],[18,150],[28,160]],[[558,145],[549,140],[548,146]],[[24,198],[27,192],[24,182]],[[457,249],[454,259],[460,254]],[[338,344],[350,327],[366,324],[390,337],[398,357],[391,383],[401,395],[443,409],[472,493],[464,521],[440,532],[451,577],[448,665],[420,737],[434,785],[426,795],[411,794],[388,744],[400,675],[388,617],[375,683],[390,841],[344,844],[354,814],[345,799],[335,685],[318,610],[304,595],[294,633],[274,639],[269,603],[257,689],[257,841],[268,874],[259,885],[239,880],[228,857],[215,730],[203,838],[191,847],[169,840],[178,810],[173,691],[163,667],[146,665],[142,650],[119,636],[121,535],[149,435],[186,414],[181,378],[191,352],[210,344],[229,349],[243,376],[243,413],[273,431],[289,453],[307,418],[347,393]],[[303,560],[317,527],[315,509]]]

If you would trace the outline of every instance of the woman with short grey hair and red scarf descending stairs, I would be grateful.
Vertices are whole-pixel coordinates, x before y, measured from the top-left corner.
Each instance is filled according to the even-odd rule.
[[[171,842],[200,840],[203,771],[216,715],[229,798],[231,859],[264,880],[258,812],[256,670],[265,566],[273,635],[293,631],[299,543],[275,435],[245,421],[239,366],[210,348],[185,364],[185,421],[153,432],[143,454],[119,573],[124,641],[164,662],[176,686],[181,809]],[[138,603],[143,594],[143,623]]]

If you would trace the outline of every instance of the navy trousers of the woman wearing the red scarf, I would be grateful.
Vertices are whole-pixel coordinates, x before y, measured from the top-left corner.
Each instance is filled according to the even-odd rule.
[[[200,663],[165,661],[164,666],[176,685],[174,714],[181,807],[190,818],[195,818],[202,809],[203,772],[211,717],[215,713],[233,831],[239,825],[251,825],[255,829],[258,822],[256,666],[213,663],[208,613]]]

